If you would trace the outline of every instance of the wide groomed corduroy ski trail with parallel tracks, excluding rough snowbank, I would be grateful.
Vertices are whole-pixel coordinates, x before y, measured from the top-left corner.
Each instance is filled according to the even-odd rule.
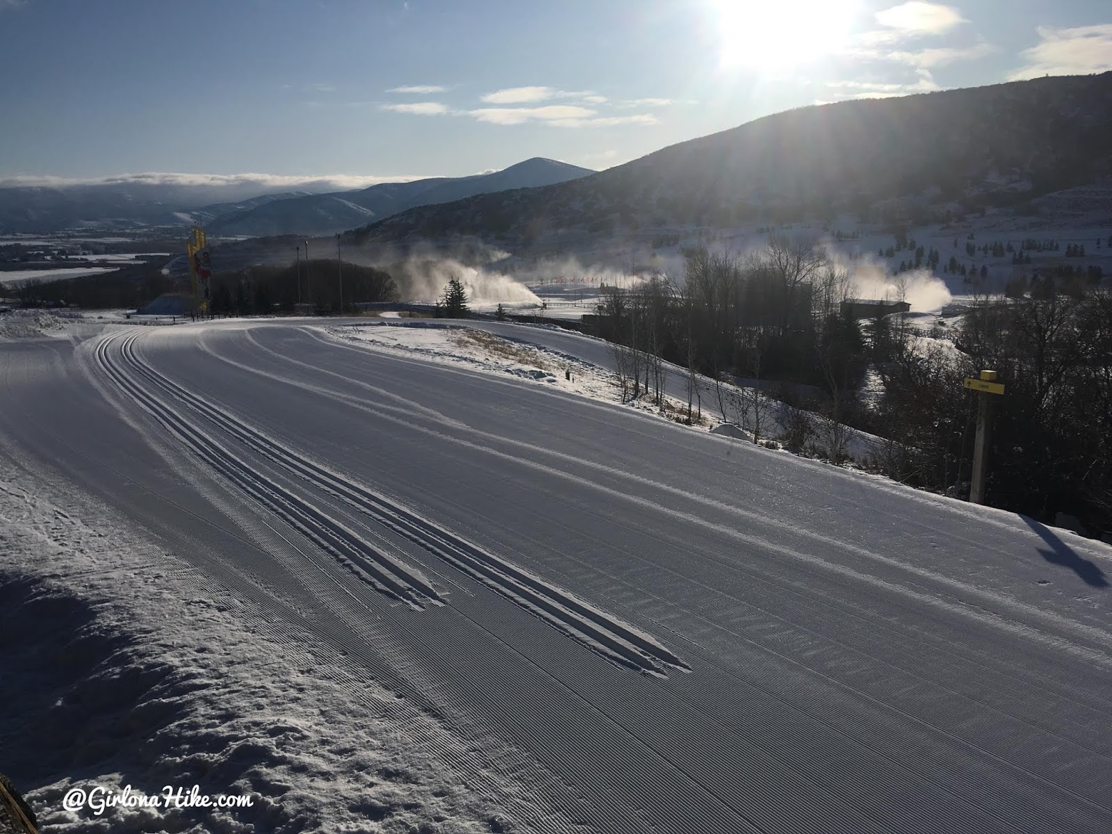
[[[1112,831],[1112,548],[284,321],[0,385],[6,443],[441,716],[526,830]]]

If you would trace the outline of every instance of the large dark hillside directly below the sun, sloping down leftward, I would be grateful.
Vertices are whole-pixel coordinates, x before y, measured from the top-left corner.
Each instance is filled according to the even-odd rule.
[[[930,222],[1112,172],[1112,72],[805,107],[545,188],[425,206],[354,242],[475,236],[528,246],[828,217]]]

